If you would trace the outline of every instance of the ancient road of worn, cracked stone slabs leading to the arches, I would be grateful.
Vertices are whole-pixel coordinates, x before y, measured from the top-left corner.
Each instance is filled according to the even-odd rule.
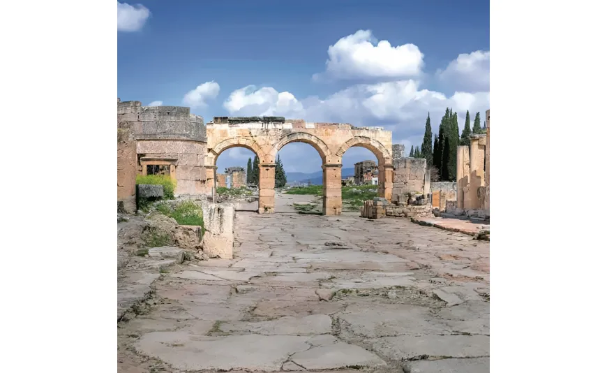
[[[488,242],[405,219],[239,212],[232,261],[161,275],[119,372],[488,372]]]

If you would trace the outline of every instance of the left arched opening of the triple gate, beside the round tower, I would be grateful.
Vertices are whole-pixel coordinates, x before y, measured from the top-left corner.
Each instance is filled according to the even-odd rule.
[[[230,200],[237,211],[258,211],[260,168],[253,147],[230,144],[211,156],[218,200]]]

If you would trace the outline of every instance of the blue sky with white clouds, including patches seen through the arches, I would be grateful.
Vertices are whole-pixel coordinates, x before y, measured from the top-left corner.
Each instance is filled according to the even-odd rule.
[[[118,2],[118,97],[202,115],[276,115],[382,126],[421,146],[426,117],[489,108],[489,1],[282,0]],[[408,152],[408,150],[407,150]],[[313,173],[304,143],[279,152]],[[253,152],[220,154],[218,172]],[[344,167],[377,161],[349,149]]]

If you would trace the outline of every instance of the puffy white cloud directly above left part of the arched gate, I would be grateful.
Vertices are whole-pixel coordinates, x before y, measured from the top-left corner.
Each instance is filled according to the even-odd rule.
[[[223,107],[232,115],[243,116],[303,114],[303,106],[290,92],[278,92],[271,87],[256,89],[254,85],[232,92]]]

